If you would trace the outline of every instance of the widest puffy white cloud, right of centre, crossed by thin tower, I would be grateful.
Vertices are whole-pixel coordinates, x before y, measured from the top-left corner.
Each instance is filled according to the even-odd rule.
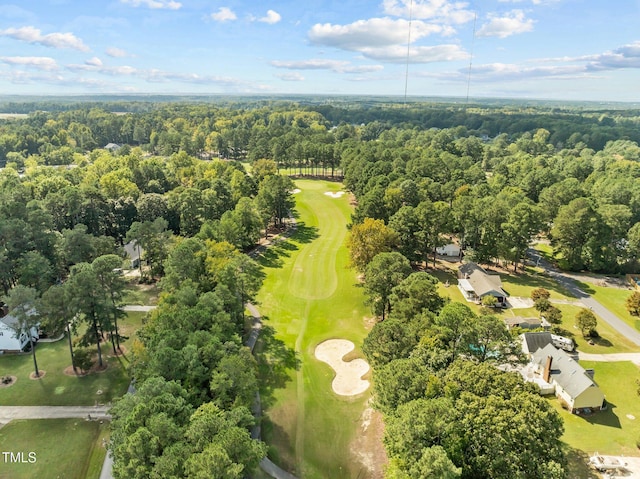
[[[411,24],[411,40],[435,33],[450,34],[450,27],[414,21]],[[327,45],[350,51],[363,48],[386,47],[407,43],[409,22],[401,19],[371,18],[348,25],[316,24],[309,31],[309,39],[319,45]]]

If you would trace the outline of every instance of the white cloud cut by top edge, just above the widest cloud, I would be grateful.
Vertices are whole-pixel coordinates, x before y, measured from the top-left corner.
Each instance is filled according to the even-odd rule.
[[[474,13],[468,10],[466,2],[451,2],[448,0],[384,0],[384,13],[395,17],[409,16],[434,20],[447,24],[462,24],[473,20]]]

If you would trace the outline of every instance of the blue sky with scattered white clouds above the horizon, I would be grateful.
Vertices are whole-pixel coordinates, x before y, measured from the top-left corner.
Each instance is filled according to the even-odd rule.
[[[0,2],[5,94],[405,88],[640,101],[640,0]]]

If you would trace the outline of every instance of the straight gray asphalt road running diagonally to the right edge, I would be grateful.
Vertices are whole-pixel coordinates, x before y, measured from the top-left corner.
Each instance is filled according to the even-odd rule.
[[[593,299],[591,295],[580,289],[576,281],[569,275],[564,274],[558,268],[553,266],[547,260],[545,260],[540,253],[533,248],[529,248],[527,251],[529,257],[542,267],[549,276],[554,278],[558,283],[564,286],[571,294],[580,300],[585,307],[590,308],[595,314],[597,314],[603,321],[609,323],[609,325],[618,331],[621,335],[635,343],[640,347],[640,331],[632,328],[627,323],[622,321],[618,316],[613,314],[610,310],[605,308],[598,301]]]

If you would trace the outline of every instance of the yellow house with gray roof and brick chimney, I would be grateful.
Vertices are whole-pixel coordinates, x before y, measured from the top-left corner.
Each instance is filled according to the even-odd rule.
[[[542,380],[555,388],[555,396],[563,407],[572,413],[588,414],[606,406],[604,394],[594,381],[593,370],[585,370],[553,344],[534,352],[531,364]]]

